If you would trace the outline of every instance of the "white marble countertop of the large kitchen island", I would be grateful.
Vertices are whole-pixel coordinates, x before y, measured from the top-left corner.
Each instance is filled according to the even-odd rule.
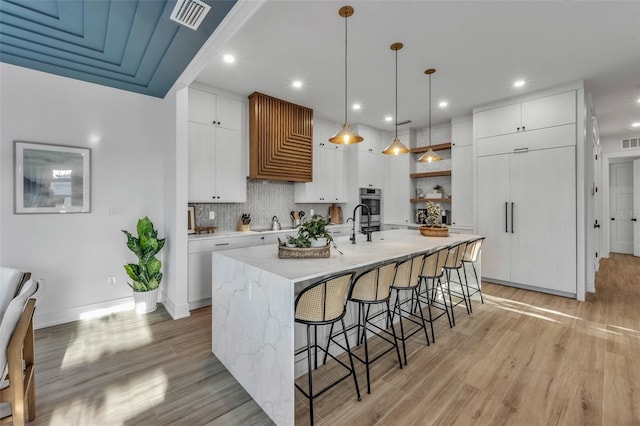
[[[348,236],[336,238],[338,249],[344,254],[340,255],[332,248],[331,257],[324,259],[279,259],[277,248],[273,244],[225,250],[215,252],[214,255],[229,257],[293,282],[300,282],[431,250],[473,237],[476,236],[451,234],[445,238],[424,237],[415,230],[396,229],[374,232],[371,242],[367,242],[366,236],[362,234],[358,235],[357,244],[351,244]]]

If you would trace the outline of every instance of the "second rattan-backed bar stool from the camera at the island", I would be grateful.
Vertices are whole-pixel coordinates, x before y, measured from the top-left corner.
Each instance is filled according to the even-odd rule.
[[[367,393],[371,393],[371,378],[369,374],[369,365],[374,361],[380,359],[383,355],[396,350],[398,356],[398,364],[402,368],[402,361],[400,360],[400,349],[398,348],[398,340],[396,338],[396,332],[391,321],[391,310],[389,308],[389,299],[391,297],[391,284],[393,284],[393,278],[396,272],[397,262],[387,262],[382,265],[370,268],[353,281],[349,295],[347,299],[358,305],[358,320],[355,324],[349,326],[347,331],[357,329],[356,346],[364,343],[364,359],[353,353],[353,357],[362,362],[366,366],[367,370]],[[383,305],[382,310],[378,310],[371,315],[372,306]],[[376,319],[385,316],[383,324],[392,324],[391,331],[381,327],[376,323]],[[333,324],[331,325],[333,331]],[[362,333],[361,333],[362,330]],[[369,345],[367,339],[367,331],[373,331],[380,338],[390,344],[384,351],[377,353],[371,357],[369,355]],[[393,339],[393,340],[391,340]],[[335,340],[334,340],[335,342]],[[327,353],[329,352],[329,344],[331,339],[327,341],[327,349],[325,351],[325,361],[327,359]],[[340,343],[337,343],[342,349],[347,350]]]

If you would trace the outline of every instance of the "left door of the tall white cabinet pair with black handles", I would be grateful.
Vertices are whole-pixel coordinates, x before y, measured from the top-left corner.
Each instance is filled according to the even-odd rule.
[[[478,233],[486,237],[482,276],[503,281],[510,281],[510,156],[478,157]]]

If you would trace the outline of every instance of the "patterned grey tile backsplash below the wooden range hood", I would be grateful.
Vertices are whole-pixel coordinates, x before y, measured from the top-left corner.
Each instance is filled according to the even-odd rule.
[[[246,203],[189,203],[195,207],[196,226],[217,226],[218,231],[235,231],[243,213],[251,213],[251,229],[271,228],[273,216],[278,216],[282,228],[291,227],[290,212],[311,209],[327,216],[330,204],[295,203],[293,182],[247,179]],[[341,205],[344,208],[344,205]],[[214,211],[216,218],[209,219]]]

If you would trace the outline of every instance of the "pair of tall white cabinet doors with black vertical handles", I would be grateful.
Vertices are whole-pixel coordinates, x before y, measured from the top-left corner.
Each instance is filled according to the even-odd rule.
[[[575,148],[478,157],[482,275],[576,293]]]

